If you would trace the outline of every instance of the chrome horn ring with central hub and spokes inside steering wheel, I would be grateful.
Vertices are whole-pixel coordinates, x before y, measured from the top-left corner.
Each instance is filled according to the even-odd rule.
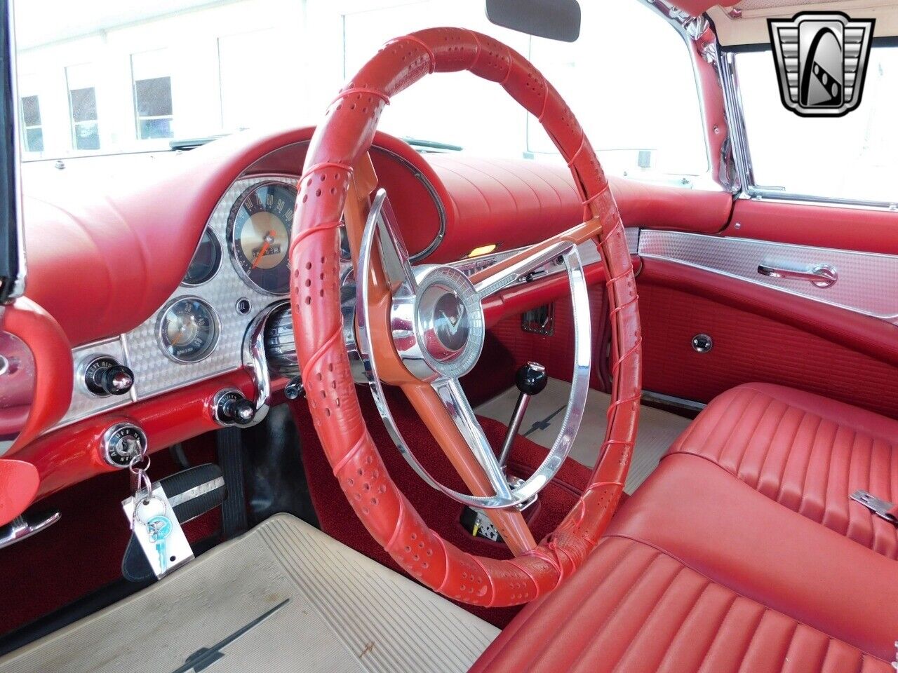
[[[589,391],[592,332],[585,274],[577,245],[572,241],[559,241],[537,249],[533,255],[473,285],[467,276],[454,267],[411,267],[408,252],[396,232],[394,222],[386,191],[378,189],[359,246],[356,316],[358,354],[383,424],[403,458],[418,476],[453,500],[487,510],[526,503],[549,484],[568,457],[580,428]],[[377,363],[372,356],[374,349],[368,330],[371,323],[368,281],[371,277],[371,256],[375,240],[380,250],[384,275],[394,288],[390,327],[397,353],[414,376],[436,390],[446,411],[489,477],[495,490],[494,495],[463,494],[438,482],[409,450],[392,417],[383,384],[377,375]],[[483,300],[556,258],[563,260],[568,272],[574,312],[574,372],[568,408],[561,422],[559,436],[540,467],[536,468],[532,476],[513,488],[499,467],[496,453],[489,445],[471,404],[462,391],[459,378],[471,371],[480,357],[486,333]]]

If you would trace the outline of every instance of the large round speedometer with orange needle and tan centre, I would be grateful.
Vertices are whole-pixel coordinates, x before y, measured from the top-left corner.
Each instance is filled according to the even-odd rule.
[[[228,217],[227,239],[234,267],[247,284],[262,293],[290,291],[287,249],[295,202],[295,187],[262,182],[243,192]]]

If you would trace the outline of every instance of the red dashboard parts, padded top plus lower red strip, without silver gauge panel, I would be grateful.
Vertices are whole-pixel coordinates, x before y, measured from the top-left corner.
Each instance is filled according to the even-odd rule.
[[[241,177],[295,175],[312,132],[246,132],[188,153],[141,162],[101,184],[93,178],[80,190],[26,193],[28,299],[20,303],[27,302],[31,312],[53,327],[48,332],[55,335],[52,369],[65,372],[56,386],[36,391],[45,403],[38,405],[40,414],[33,423],[30,419],[27,433],[22,433],[27,436],[13,450],[16,459],[38,468],[39,497],[112,469],[94,453],[98,433],[111,422],[128,417],[141,424],[150,435],[151,450],[158,450],[216,427],[207,408],[215,390],[225,383],[241,389],[249,385],[244,372],[233,371],[46,433],[65,412],[72,390],[69,349],[126,333],[152,316],[180,284],[225,190]],[[562,162],[422,155],[380,133],[372,160],[409,250],[426,249],[442,233],[439,246],[425,258],[429,262],[453,261],[489,243],[499,244],[500,250],[519,248],[581,222],[582,206]],[[60,184],[68,177],[60,174]],[[611,184],[629,226],[719,232],[732,206],[724,192],[628,179],[612,179]],[[601,282],[602,277],[601,267],[590,269],[592,281]],[[489,314],[498,319],[508,311],[529,308],[525,305],[531,299],[544,301],[563,292],[558,281],[528,285],[528,296],[521,296],[523,290],[510,291],[489,307]],[[40,344],[30,345],[35,354],[42,352],[35,347]]]

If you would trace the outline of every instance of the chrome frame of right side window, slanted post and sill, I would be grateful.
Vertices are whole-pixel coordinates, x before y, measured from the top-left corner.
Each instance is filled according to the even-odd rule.
[[[713,26],[713,23],[711,25]],[[715,41],[717,42],[716,38]],[[756,49],[753,48],[752,50]],[[800,192],[789,192],[783,189],[773,189],[757,184],[754,180],[752,153],[749,148],[748,132],[745,127],[742,90],[739,87],[739,74],[735,64],[736,56],[746,51],[746,49],[738,47],[722,48],[717,43],[717,51],[718,75],[723,87],[724,107],[726,108],[726,125],[729,127],[730,144],[733,148],[733,162],[735,163],[736,176],[739,179],[739,188],[735,192],[737,198],[898,212],[898,199],[895,201],[867,201],[865,199],[822,197]]]

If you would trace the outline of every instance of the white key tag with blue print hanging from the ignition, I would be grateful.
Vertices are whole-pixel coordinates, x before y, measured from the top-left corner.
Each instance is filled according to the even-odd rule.
[[[193,559],[193,550],[174,515],[172,504],[161,484],[152,485],[152,494],[138,491],[121,503],[131,523],[134,537],[146,555],[156,577],[162,579]]]

